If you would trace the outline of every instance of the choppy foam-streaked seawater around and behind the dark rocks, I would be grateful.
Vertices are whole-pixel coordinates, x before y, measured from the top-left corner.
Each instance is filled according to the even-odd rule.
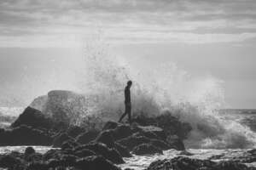
[[[22,110],[23,108],[6,108],[6,107],[1,108],[0,109],[1,127],[8,127],[11,124],[11,122],[13,122],[15,118],[19,116]],[[249,131],[249,134],[256,133],[256,110],[234,110],[234,109],[221,110],[221,111],[218,111],[218,116],[220,116],[220,118],[226,121],[234,122],[235,125],[242,126],[244,129],[247,129],[247,131]],[[239,130],[241,130],[241,127],[237,128],[237,131]],[[236,134],[238,135],[238,137],[234,136]],[[211,139],[211,137],[208,137],[208,138]],[[243,142],[246,142],[247,140],[243,138],[241,139],[241,137],[239,136],[239,133],[234,133],[232,135],[232,138],[234,140],[237,140],[235,142],[236,144],[234,143],[235,145],[232,143],[232,141],[230,141],[230,143],[232,144],[225,145],[223,143],[217,143],[217,145],[210,144],[210,145],[207,145],[207,147],[206,145],[202,145],[201,148],[198,145],[195,147],[193,147],[193,144],[187,145],[186,141],[185,141],[185,144],[186,144],[187,151],[192,155],[189,157],[198,158],[198,159],[208,159],[208,158],[214,157],[212,158],[212,161],[227,161],[227,160],[233,159],[234,157],[246,156],[247,150],[254,148],[254,145],[239,144],[239,142],[243,143]],[[34,148],[40,153],[44,153],[50,149],[50,147],[44,147],[44,146],[34,146]],[[0,154],[9,153],[11,151],[23,152],[25,149],[26,149],[26,146],[4,146],[4,147],[0,147]],[[184,155],[182,151],[165,150],[163,155],[132,156],[131,158],[125,158],[125,164],[120,165],[120,167],[122,167],[122,169],[130,167],[136,170],[142,170],[148,167],[148,165],[152,161],[156,161],[159,159],[160,160],[166,159],[166,158],[169,159],[175,156],[188,156],[188,155],[186,154]],[[256,167],[256,161],[252,163],[247,163],[247,166]]]

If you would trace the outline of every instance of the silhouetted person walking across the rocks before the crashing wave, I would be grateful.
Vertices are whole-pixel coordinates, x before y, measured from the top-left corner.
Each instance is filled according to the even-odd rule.
[[[119,122],[122,121],[122,119],[125,117],[125,115],[128,115],[129,123],[131,124],[131,81],[127,82],[127,86],[125,87],[125,113],[120,117]]]

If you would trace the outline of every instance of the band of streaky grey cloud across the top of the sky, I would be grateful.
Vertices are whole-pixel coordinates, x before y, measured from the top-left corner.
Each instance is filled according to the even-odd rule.
[[[3,0],[0,46],[60,45],[95,29],[113,42],[246,41],[255,9],[254,0]]]

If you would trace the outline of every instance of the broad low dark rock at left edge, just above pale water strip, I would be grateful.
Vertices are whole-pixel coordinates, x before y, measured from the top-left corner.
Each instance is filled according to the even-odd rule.
[[[0,133],[0,145],[50,145],[52,138],[41,130],[21,125]]]

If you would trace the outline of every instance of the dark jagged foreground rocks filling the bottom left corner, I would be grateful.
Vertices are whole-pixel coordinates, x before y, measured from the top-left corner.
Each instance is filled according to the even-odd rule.
[[[12,152],[0,156],[0,168],[18,170],[49,170],[49,169],[76,169],[76,170],[120,170],[112,161],[91,150],[49,150],[44,155],[27,148],[26,153]]]

